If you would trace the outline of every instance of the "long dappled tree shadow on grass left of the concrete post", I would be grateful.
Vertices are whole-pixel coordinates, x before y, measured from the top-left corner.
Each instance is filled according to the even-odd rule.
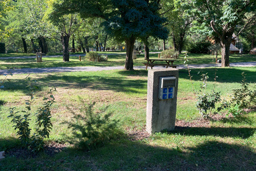
[[[70,87],[70,88],[90,88],[95,90],[113,90],[116,92],[126,92],[126,93],[138,93],[140,89],[143,89],[147,85],[147,80],[130,80],[126,78],[117,77],[106,77],[102,76],[69,76],[69,75],[54,75],[48,74],[44,78],[34,79],[39,84],[39,90],[41,91],[43,87]],[[26,84],[23,83],[24,80],[12,80],[12,82],[6,83],[8,88],[6,90],[21,90],[24,93],[28,93],[28,88]]]

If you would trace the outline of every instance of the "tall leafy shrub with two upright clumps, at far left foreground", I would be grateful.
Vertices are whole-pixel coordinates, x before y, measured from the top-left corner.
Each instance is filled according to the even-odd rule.
[[[50,134],[50,130],[52,129],[52,123],[51,123],[51,106],[54,101],[54,96],[52,95],[52,92],[56,91],[56,88],[53,87],[50,89],[48,94],[50,94],[49,97],[44,97],[44,101],[47,100],[47,102],[44,102],[43,106],[37,109],[37,120],[36,120],[36,130],[35,133],[31,136],[31,129],[29,128],[29,121],[31,120],[29,116],[31,115],[31,105],[35,101],[34,100],[34,88],[38,88],[36,85],[34,85],[33,81],[28,77],[27,82],[28,87],[30,89],[30,100],[26,100],[26,111],[21,111],[24,113],[24,115],[19,115],[20,111],[16,111],[16,108],[10,108],[10,115],[8,117],[11,117],[11,122],[15,125],[14,130],[17,130],[17,135],[19,135],[19,139],[22,142],[24,146],[26,146],[28,149],[31,149],[32,151],[40,151],[43,150],[44,147],[44,138],[48,137]]]

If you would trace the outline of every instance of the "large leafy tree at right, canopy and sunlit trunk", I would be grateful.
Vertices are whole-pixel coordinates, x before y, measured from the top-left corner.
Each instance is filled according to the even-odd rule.
[[[229,66],[229,48],[231,41],[242,31],[252,26],[255,20],[255,0],[176,0],[176,5],[194,15],[194,30],[202,35],[208,35],[220,43],[222,48],[221,66]],[[236,33],[236,36],[233,36]]]

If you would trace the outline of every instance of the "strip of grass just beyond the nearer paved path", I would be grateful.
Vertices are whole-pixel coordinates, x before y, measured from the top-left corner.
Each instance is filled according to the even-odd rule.
[[[101,52],[105,53],[105,52]],[[113,53],[112,51],[106,52]],[[117,52],[119,53],[119,52]],[[42,57],[42,63],[36,63],[36,59],[1,59],[0,69],[19,69],[19,68],[46,68],[46,67],[74,67],[74,66],[122,66],[125,63],[125,52],[123,55],[109,55],[108,61],[92,62],[87,60],[79,61],[78,57],[70,57],[70,62],[63,62],[62,57]],[[83,54],[81,54],[82,57]],[[158,58],[158,54],[150,54],[150,58]],[[207,64],[212,62],[212,56],[207,54],[188,54],[189,64]],[[252,62],[256,61],[256,56],[252,55],[231,55],[229,62]],[[141,66],[144,63],[144,55],[137,55],[133,60],[134,66]],[[174,64],[183,65],[184,54],[181,54]],[[161,63],[161,62],[160,62]],[[165,62],[162,62],[165,63]]]

